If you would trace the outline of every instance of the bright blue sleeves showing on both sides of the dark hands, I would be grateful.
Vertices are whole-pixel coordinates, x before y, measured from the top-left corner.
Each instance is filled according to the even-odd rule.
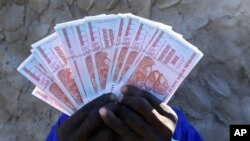
[[[181,111],[174,109],[178,116],[177,126],[175,128],[175,132],[173,134],[172,140],[178,141],[203,141],[199,133],[195,130],[195,128],[189,124],[188,120],[184,117]],[[68,116],[62,114],[56,124],[51,128],[46,141],[58,141],[56,130],[63,123]]]

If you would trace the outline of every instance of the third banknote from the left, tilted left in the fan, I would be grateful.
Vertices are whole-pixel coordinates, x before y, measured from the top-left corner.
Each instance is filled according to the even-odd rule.
[[[32,44],[35,56],[41,64],[48,68],[58,86],[68,96],[77,108],[83,105],[85,90],[78,90],[73,73],[68,64],[61,41],[57,35],[51,34],[46,38]]]

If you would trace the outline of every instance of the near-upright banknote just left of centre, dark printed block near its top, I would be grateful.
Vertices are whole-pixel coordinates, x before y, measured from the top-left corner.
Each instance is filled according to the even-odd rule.
[[[97,76],[96,83],[99,85],[98,93],[105,93],[109,91],[107,89],[107,82],[108,77],[111,75],[112,50],[115,45],[121,18],[109,15],[103,18],[88,20],[86,22],[88,40],[92,48],[91,55],[95,76]]]

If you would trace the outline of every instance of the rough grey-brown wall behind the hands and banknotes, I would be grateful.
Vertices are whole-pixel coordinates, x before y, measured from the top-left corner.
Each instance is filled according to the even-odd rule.
[[[31,96],[16,68],[57,23],[102,13],[133,14],[173,26],[203,59],[170,105],[207,141],[250,124],[249,0],[0,0],[0,140],[42,141],[60,112]]]

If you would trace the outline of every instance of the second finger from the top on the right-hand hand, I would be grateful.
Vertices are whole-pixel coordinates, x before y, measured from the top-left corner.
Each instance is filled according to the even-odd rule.
[[[152,125],[162,135],[166,135],[167,133],[172,134],[171,130],[166,127],[165,123],[172,123],[172,121],[167,121],[169,119],[159,114],[157,110],[154,109],[154,107],[143,97],[124,96],[121,103],[140,114],[148,123],[150,123],[150,125]]]

